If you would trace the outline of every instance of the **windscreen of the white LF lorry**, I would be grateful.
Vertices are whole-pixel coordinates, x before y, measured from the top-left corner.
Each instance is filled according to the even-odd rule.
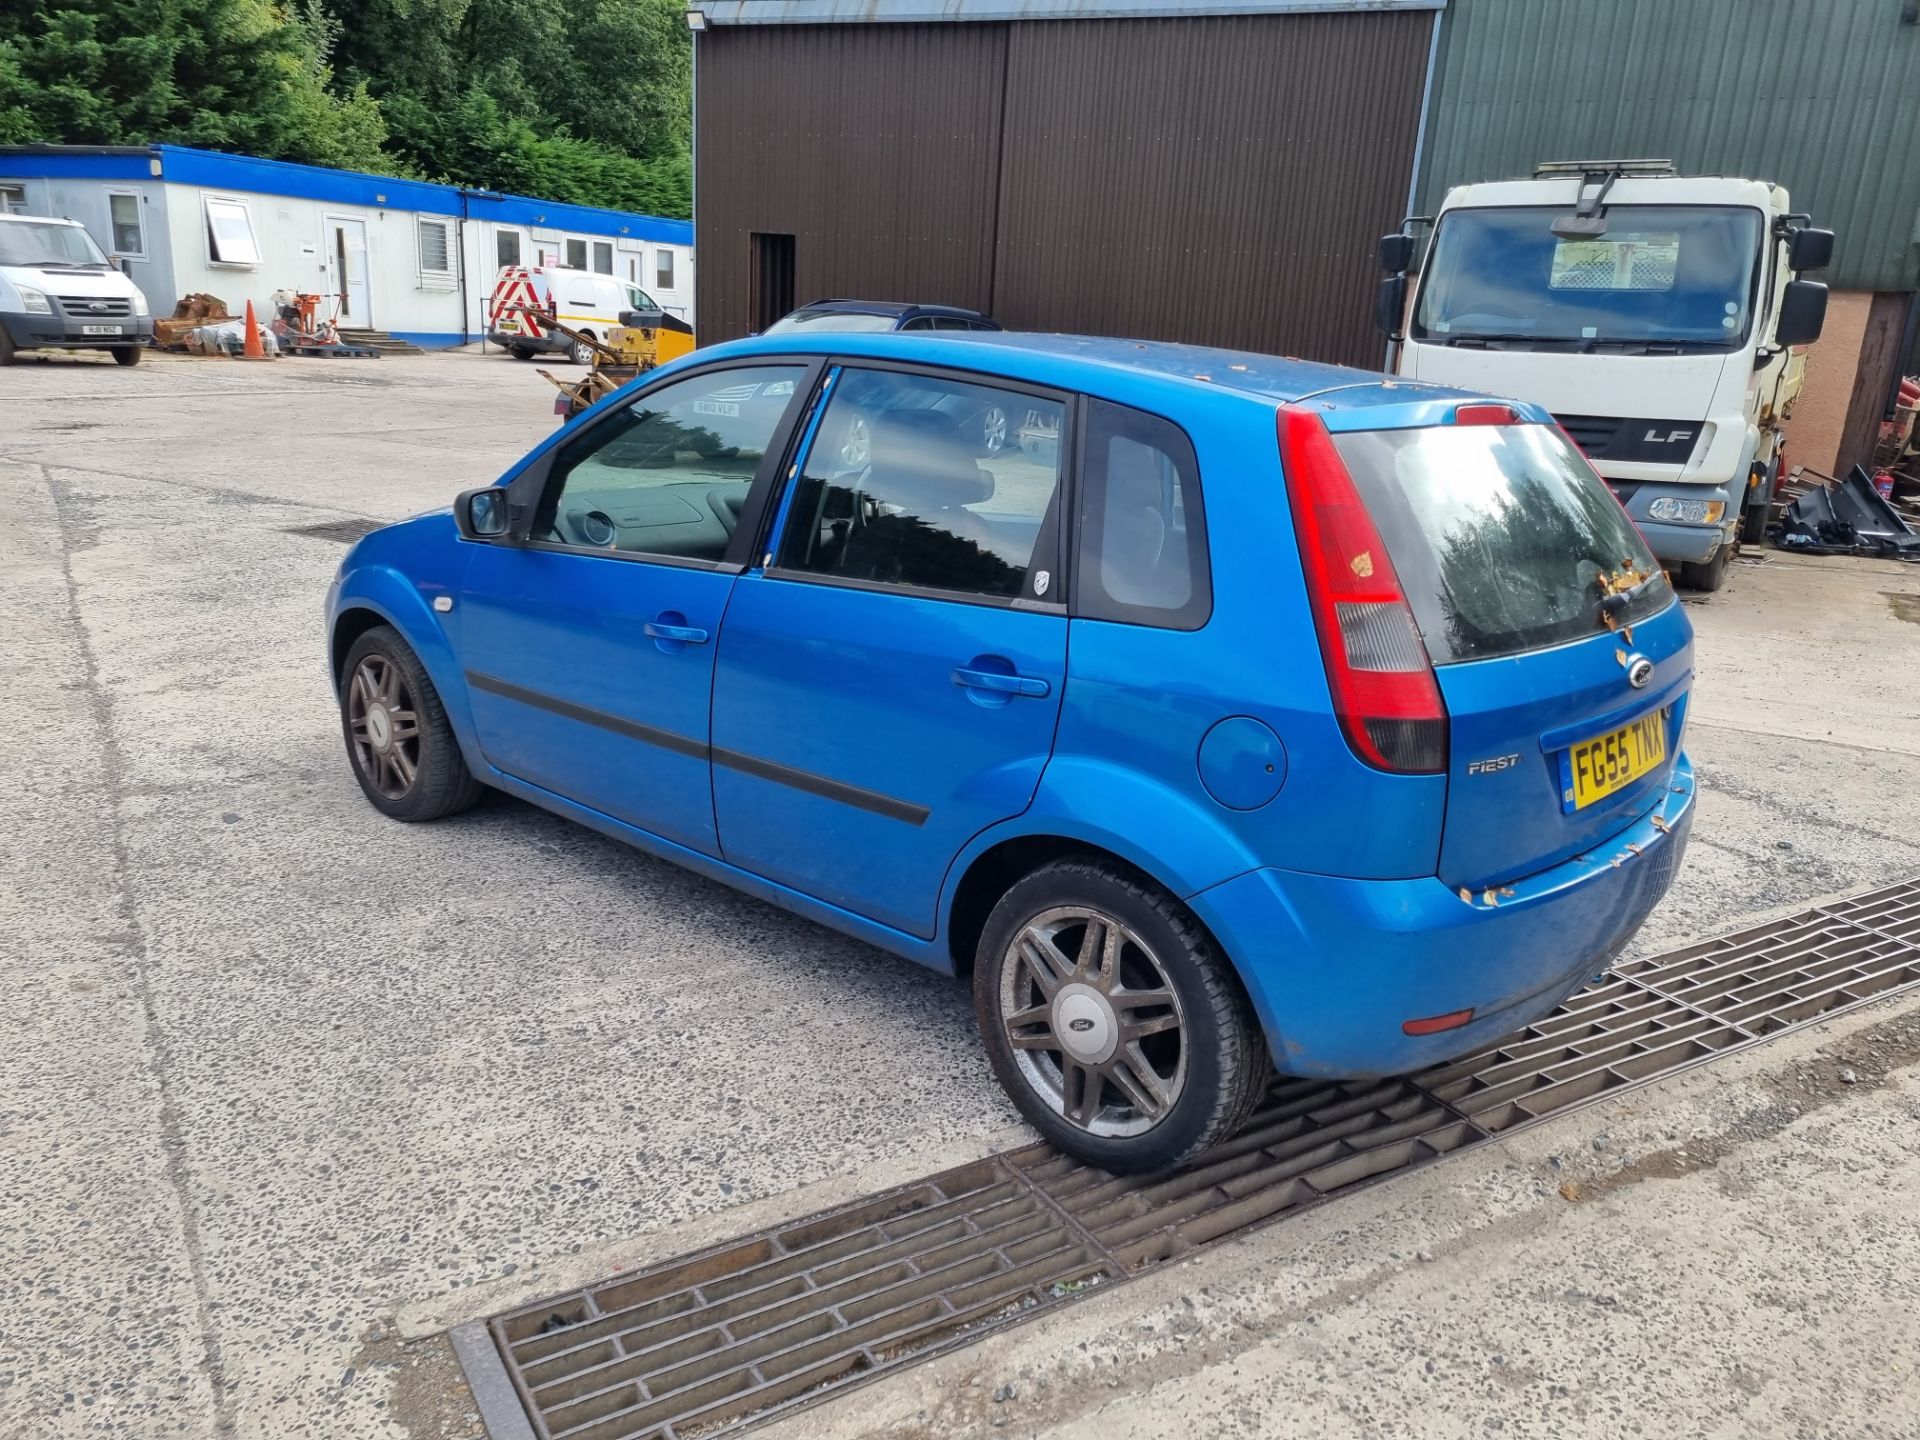
[[[1609,205],[1607,232],[1561,238],[1565,205],[1442,215],[1413,315],[1434,344],[1734,348],[1753,319],[1761,211]]]

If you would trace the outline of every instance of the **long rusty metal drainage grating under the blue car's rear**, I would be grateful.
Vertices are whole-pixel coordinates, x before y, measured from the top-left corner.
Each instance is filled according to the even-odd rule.
[[[1046,1144],[488,1323],[541,1440],[691,1440],[822,1400],[1198,1246],[1920,985],[1920,881],[1632,960],[1407,1079],[1279,1079],[1169,1175]]]

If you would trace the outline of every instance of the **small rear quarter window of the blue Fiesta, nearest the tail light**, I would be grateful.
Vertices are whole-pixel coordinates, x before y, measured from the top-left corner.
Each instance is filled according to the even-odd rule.
[[[1198,630],[1213,612],[1200,467],[1158,415],[1087,401],[1075,612]]]

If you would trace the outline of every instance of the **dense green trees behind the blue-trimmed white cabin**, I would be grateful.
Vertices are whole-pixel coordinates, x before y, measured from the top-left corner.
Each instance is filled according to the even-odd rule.
[[[684,217],[689,106],[682,0],[0,0],[6,144],[171,140]]]

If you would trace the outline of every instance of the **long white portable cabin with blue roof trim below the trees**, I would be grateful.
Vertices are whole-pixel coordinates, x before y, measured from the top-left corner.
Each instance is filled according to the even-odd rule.
[[[0,146],[0,209],[86,225],[154,315],[198,292],[267,315],[303,290],[434,349],[486,332],[503,265],[572,265],[693,323],[693,227],[657,215],[165,144]]]

